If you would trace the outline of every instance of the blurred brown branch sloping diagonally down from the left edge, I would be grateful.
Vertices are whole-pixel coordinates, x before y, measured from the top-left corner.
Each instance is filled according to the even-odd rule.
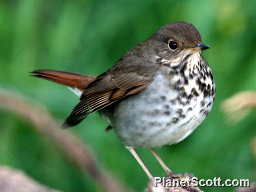
[[[78,166],[79,170],[87,171],[91,178],[105,191],[130,191],[96,164],[96,159],[89,146],[69,131],[60,130],[55,120],[37,103],[23,98],[16,92],[0,88],[0,108],[29,120],[37,131],[55,142],[64,154]]]

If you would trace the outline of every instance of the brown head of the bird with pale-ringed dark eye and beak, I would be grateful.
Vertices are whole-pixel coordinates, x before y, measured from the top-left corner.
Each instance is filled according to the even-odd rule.
[[[184,59],[195,53],[201,56],[201,50],[210,48],[202,44],[197,28],[187,22],[166,24],[155,32],[151,39],[155,44],[157,57],[172,66],[182,63]]]

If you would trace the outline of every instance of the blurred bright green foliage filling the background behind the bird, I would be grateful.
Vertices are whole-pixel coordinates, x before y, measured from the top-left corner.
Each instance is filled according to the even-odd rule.
[[[175,172],[198,178],[255,178],[251,142],[256,114],[229,125],[219,106],[238,91],[256,90],[256,1],[254,0],[1,0],[0,86],[44,104],[59,119],[78,102],[67,87],[31,78],[34,69],[99,75],[127,50],[173,21],[193,23],[211,49],[203,54],[215,75],[216,98],[206,120],[183,142],[157,149]],[[100,191],[32,125],[0,111],[0,164],[23,169],[66,192]],[[72,132],[95,150],[98,163],[142,191],[148,178],[114,131],[92,114]],[[147,149],[138,149],[155,176],[164,171]],[[214,187],[203,188],[206,192]],[[233,191],[234,188],[218,188]]]

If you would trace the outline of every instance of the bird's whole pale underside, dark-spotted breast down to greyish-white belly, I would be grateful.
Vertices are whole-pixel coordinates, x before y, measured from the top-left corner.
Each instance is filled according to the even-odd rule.
[[[126,146],[154,147],[182,141],[206,118],[215,97],[210,67],[197,52],[183,64],[161,63],[149,87],[100,111]],[[170,78],[171,77],[171,78]]]

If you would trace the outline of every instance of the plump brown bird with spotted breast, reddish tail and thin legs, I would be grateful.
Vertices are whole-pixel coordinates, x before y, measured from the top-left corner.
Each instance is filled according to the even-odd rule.
[[[97,77],[50,69],[31,73],[68,86],[80,96],[61,128],[73,127],[98,112],[109,123],[106,131],[114,129],[153,179],[134,148],[149,148],[166,173],[173,174],[154,148],[181,142],[209,114],[215,81],[201,53],[209,48],[194,25],[172,22]]]

